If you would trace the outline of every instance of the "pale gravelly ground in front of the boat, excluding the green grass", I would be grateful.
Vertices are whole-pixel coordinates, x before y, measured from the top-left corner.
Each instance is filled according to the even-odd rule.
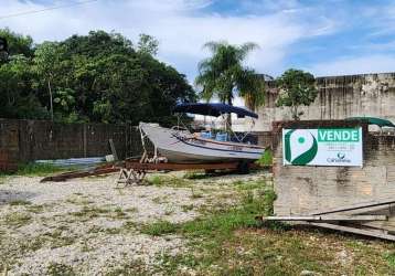
[[[77,274],[97,275],[132,261],[154,266],[156,256],[178,254],[184,242],[175,234],[142,234],[141,225],[193,220],[200,206],[217,199],[232,203],[234,191],[226,183],[246,180],[245,176],[228,176],[184,181],[179,173],[166,176],[169,185],[115,189],[116,178],[111,174],[58,183],[40,183],[40,177],[3,179],[2,268],[7,266],[9,275],[56,274],[56,269],[67,267]],[[160,182],[161,176],[150,178]]]

